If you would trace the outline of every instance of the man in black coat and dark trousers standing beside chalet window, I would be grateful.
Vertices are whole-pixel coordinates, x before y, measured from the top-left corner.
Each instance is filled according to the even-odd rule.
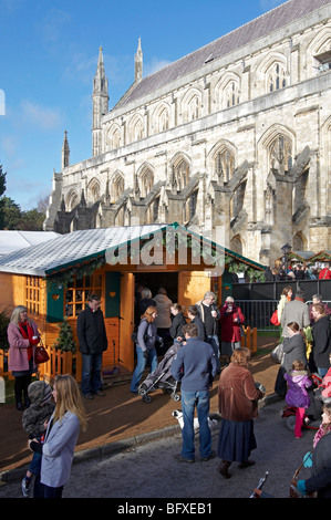
[[[93,399],[93,394],[104,396],[102,392],[102,353],[107,350],[107,336],[100,298],[89,295],[87,308],[77,318],[77,339],[82,354],[82,394]]]

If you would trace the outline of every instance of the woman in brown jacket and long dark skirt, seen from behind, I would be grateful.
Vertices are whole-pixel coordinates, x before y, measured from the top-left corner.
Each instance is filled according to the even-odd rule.
[[[221,459],[218,472],[225,478],[230,478],[228,468],[234,461],[239,462],[239,468],[255,464],[249,460],[251,450],[257,447],[254,418],[258,415],[258,401],[263,397],[263,393],[254,382],[249,361],[248,349],[236,349],[230,364],[219,376],[221,424],[217,455]]]

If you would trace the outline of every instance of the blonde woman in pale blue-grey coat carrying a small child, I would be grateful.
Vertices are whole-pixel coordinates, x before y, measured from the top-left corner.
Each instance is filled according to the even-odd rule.
[[[42,454],[40,477],[35,478],[34,498],[62,498],[68,482],[80,429],[86,429],[82,396],[75,379],[58,375],[53,397],[55,409],[48,424],[43,444],[29,440],[32,451]]]

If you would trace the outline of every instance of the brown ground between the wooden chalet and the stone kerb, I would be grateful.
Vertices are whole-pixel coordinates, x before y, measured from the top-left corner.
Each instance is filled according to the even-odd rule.
[[[278,365],[270,361],[269,352],[276,343],[275,337],[259,337],[259,351],[262,354],[252,357],[252,372],[256,381],[267,388],[267,395],[273,393]],[[263,352],[266,352],[263,354]],[[105,379],[110,381],[110,379]],[[218,412],[218,379],[211,391],[210,412]],[[79,437],[76,450],[91,450],[128,438],[139,438],[144,434],[172,428],[177,425],[172,412],[180,408],[180,402],[174,402],[162,391],[152,395],[152,403],[142,402],[139,396],[128,391],[130,383],[108,386],[105,397],[85,401],[87,430]],[[31,459],[27,447],[27,434],[22,429],[22,413],[13,405],[0,406],[0,474],[23,468]]]

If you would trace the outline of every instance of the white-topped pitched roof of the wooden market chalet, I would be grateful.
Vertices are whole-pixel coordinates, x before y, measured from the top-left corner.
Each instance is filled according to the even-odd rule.
[[[112,228],[84,229],[68,235],[60,235],[46,242],[31,246],[0,258],[0,272],[29,274],[35,277],[50,277],[59,271],[70,269],[79,263],[89,262],[99,258],[105,258],[108,263],[114,257],[114,251],[120,247],[132,246],[134,240],[149,239],[151,235],[168,229],[190,233],[189,228],[177,225],[144,225],[118,226]],[[199,236],[197,236],[200,239]],[[209,242],[204,238],[204,241]],[[210,243],[210,242],[209,242]],[[211,242],[213,243],[213,242]],[[260,263],[241,257],[229,249],[218,245],[227,256],[262,269]],[[107,256],[108,253],[108,256]],[[121,266],[118,266],[121,270]]]

